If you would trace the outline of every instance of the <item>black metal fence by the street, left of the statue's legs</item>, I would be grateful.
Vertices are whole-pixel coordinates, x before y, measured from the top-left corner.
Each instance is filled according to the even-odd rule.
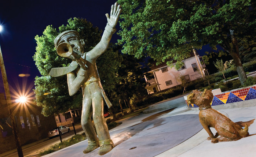
[[[67,141],[76,134],[83,134],[84,130],[81,122],[67,121],[58,124],[59,138],[62,141]]]

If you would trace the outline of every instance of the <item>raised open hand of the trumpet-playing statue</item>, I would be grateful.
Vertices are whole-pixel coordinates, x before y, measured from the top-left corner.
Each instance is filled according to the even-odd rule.
[[[107,23],[112,28],[116,27],[118,19],[119,19],[119,15],[121,13],[121,5],[118,5],[118,6],[117,5],[118,4],[115,3],[114,5],[111,6],[110,17],[109,17],[109,14],[106,14]]]

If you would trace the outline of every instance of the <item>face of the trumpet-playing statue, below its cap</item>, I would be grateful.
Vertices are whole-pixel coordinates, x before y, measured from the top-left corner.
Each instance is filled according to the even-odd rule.
[[[76,49],[77,51],[80,52],[84,52],[84,42],[83,40],[78,40],[76,35],[73,34],[69,34],[69,35],[65,35],[61,38],[61,40],[59,41],[58,44],[61,44],[63,42],[66,42],[67,44],[70,44],[72,46],[73,49]],[[83,42],[83,43],[81,43]]]

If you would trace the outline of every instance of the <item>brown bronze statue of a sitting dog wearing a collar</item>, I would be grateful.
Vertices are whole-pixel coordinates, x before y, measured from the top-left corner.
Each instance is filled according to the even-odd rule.
[[[245,124],[245,128],[242,129],[228,117],[213,109],[211,107],[212,99],[212,90],[206,89],[203,92],[193,90],[191,94],[187,96],[188,104],[196,104],[199,106],[199,120],[210,136],[208,140],[212,140],[212,143],[217,143],[219,141],[236,141],[248,136],[247,124]],[[212,134],[210,127],[215,128],[217,131],[215,136]],[[217,138],[219,135],[220,137]]]

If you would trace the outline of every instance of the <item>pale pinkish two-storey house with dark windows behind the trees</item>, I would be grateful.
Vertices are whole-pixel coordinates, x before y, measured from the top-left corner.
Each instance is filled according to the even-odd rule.
[[[184,64],[179,70],[175,69],[175,63],[172,64],[172,68],[166,63],[162,63],[158,66],[154,64],[150,67],[151,71],[147,73],[150,73],[150,75],[153,76],[153,79],[148,80],[145,76],[148,94],[180,85],[180,80],[190,82],[195,79],[202,78],[199,66],[201,67],[204,75],[205,64],[201,64],[201,62],[204,63],[204,61],[199,55],[196,56],[197,59],[195,56],[191,56],[192,57],[183,60]]]

